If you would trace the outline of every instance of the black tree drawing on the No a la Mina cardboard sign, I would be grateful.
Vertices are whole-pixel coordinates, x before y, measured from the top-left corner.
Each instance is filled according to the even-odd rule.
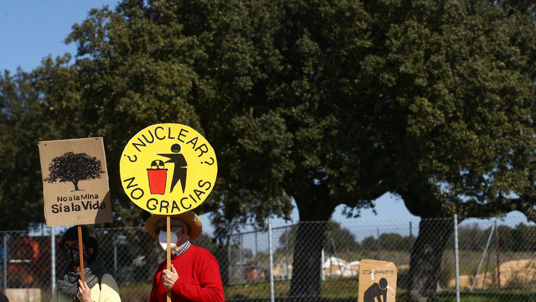
[[[48,166],[50,175],[45,181],[54,183],[72,182],[75,185],[74,191],[79,191],[78,182],[80,180],[101,178],[102,163],[96,157],[91,157],[86,153],[66,152],[62,156],[52,159]]]

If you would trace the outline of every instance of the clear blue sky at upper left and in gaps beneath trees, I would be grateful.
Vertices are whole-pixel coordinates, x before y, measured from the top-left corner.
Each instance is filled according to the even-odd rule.
[[[18,67],[31,71],[38,67],[43,57],[76,54],[75,45],[65,45],[63,40],[71,32],[71,26],[81,23],[92,8],[109,5],[114,8],[117,0],[1,0],[0,1],[0,70],[14,72]],[[141,210],[141,209],[140,209]],[[345,220],[340,206],[333,214],[333,220]],[[376,200],[376,211],[363,210],[362,220],[418,220],[411,215],[399,198],[385,194]],[[509,216],[522,216],[512,213]],[[292,213],[294,222],[299,220],[297,210]],[[202,216],[206,231],[211,229],[209,219]],[[284,223],[274,220],[274,225]]]

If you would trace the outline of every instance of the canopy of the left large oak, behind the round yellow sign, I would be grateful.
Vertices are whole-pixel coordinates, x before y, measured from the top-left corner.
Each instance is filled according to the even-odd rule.
[[[106,137],[111,158],[148,123],[204,132],[222,167],[204,208],[218,221],[288,218],[290,197],[302,220],[326,220],[338,204],[370,205],[386,191],[370,127],[375,99],[355,101],[367,36],[354,4],[127,1],[92,10],[68,38],[76,63],[44,61],[38,87],[70,135]],[[298,12],[302,20],[286,24]],[[329,33],[322,24],[333,24]],[[110,165],[114,195],[128,205]]]

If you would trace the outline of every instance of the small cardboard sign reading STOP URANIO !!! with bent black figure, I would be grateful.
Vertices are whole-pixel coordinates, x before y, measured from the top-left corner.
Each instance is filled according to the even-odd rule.
[[[394,302],[397,267],[393,262],[363,259],[359,263],[359,302]]]

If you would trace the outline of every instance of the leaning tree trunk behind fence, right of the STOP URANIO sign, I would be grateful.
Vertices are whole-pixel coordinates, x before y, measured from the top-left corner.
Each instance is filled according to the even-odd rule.
[[[445,246],[452,234],[452,219],[421,219],[410,260],[410,297],[437,301],[437,280]]]

